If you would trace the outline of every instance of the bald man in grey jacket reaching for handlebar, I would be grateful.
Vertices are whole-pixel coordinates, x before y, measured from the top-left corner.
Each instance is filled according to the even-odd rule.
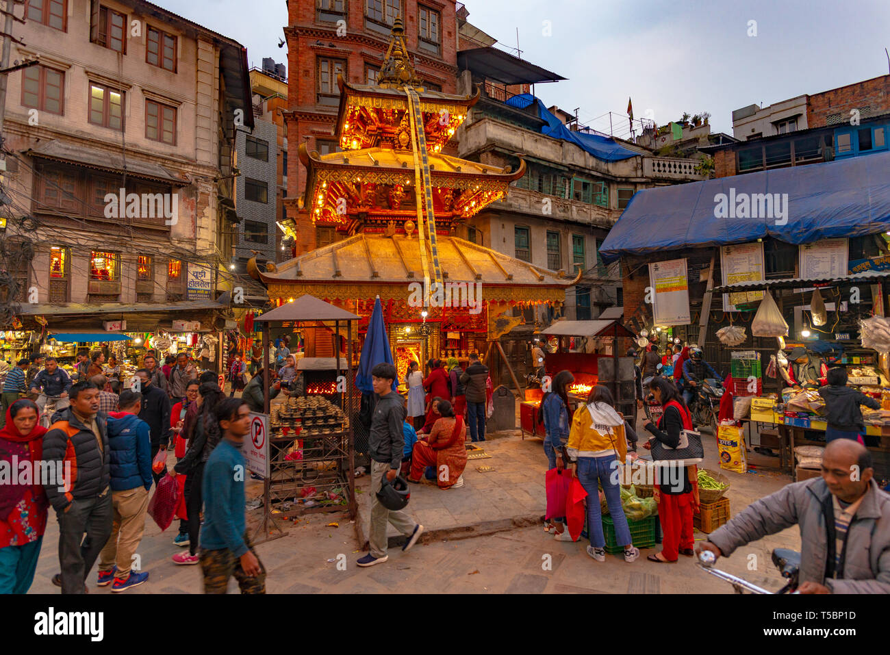
[[[821,477],[756,500],[696,550],[729,555],[795,524],[801,594],[890,594],[890,495],[878,489],[861,443],[831,441]]]

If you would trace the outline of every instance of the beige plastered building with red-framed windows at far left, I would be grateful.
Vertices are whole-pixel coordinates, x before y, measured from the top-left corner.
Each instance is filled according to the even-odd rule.
[[[39,65],[8,77],[4,124],[23,322],[212,326],[238,220],[235,127],[254,123],[245,49],[141,0],[32,0],[25,18],[11,60]]]

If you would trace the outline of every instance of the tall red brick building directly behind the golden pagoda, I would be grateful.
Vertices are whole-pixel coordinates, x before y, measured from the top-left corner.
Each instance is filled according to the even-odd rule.
[[[287,142],[307,142],[321,154],[338,150],[335,125],[340,89],[345,82],[376,80],[389,46],[392,21],[401,16],[417,74],[426,88],[455,93],[457,15],[455,4],[441,0],[292,0],[288,4]],[[295,157],[287,160],[287,227],[293,230],[295,254],[336,239],[334,230],[316,228],[296,198],[305,186],[306,170]]]

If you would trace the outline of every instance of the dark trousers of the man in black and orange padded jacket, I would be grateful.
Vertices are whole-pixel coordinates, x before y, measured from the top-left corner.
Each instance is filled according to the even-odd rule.
[[[101,497],[78,498],[67,510],[56,512],[61,593],[83,594],[86,576],[111,536],[111,490]]]

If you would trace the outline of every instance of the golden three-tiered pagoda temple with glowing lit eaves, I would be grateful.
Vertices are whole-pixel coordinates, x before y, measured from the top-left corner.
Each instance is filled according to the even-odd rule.
[[[320,297],[362,317],[361,339],[379,295],[402,380],[409,360],[486,352],[519,322],[506,316],[517,305],[564,302],[578,277],[454,236],[458,223],[503,198],[525,173],[522,158],[513,171],[441,152],[478,89],[470,96],[427,91],[399,19],[377,84],[337,83],[334,133],[344,151],[320,155],[300,146],[308,173],[299,204],[314,224],[344,239],[266,271],[251,260],[248,271],[274,303]],[[308,351],[307,341],[314,356]]]

